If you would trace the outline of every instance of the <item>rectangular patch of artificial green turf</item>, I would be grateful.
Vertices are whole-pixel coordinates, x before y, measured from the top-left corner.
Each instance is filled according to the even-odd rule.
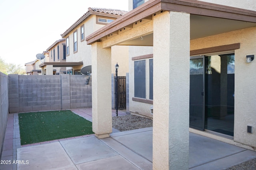
[[[93,134],[92,122],[70,110],[19,113],[21,145]]]

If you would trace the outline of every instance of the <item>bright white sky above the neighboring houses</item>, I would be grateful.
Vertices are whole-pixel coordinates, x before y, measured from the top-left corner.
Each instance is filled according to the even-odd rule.
[[[0,57],[22,66],[36,60],[89,7],[128,11],[128,0],[0,0]]]

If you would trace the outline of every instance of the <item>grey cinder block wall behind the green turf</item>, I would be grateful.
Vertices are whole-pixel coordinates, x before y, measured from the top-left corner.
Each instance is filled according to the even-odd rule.
[[[92,107],[87,75],[9,74],[8,77],[10,113]]]

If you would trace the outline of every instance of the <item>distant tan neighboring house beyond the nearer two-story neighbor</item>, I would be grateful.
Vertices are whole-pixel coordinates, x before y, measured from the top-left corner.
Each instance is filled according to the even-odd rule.
[[[66,67],[60,66],[61,63],[66,63],[66,40],[65,39],[59,39],[55,41],[48,49],[48,61],[44,61],[40,65],[40,67],[43,70],[43,73],[46,74],[47,71],[50,72],[50,70],[46,70],[46,66],[53,66],[52,67],[52,74],[53,75],[59,75],[59,74],[66,74]],[[51,68],[49,68],[51,69]]]

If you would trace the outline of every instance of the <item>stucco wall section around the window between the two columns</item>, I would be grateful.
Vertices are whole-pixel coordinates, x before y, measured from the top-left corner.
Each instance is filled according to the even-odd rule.
[[[150,106],[152,106],[152,104],[146,104],[132,100],[134,97],[134,61],[132,61],[132,57],[138,57],[140,55],[147,55],[152,53],[153,47],[129,47],[129,111],[131,114],[140,114],[146,117],[152,117],[150,114]]]

